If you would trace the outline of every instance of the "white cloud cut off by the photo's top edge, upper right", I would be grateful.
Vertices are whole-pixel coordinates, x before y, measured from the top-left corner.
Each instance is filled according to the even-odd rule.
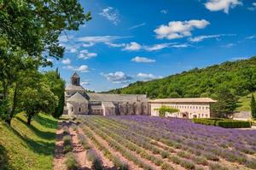
[[[229,14],[230,8],[235,8],[238,5],[242,5],[240,0],[208,0],[205,6],[210,11],[223,10],[224,13]]]

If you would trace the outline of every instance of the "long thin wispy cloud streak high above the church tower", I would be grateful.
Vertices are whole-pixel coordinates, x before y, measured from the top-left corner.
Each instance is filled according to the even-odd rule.
[[[118,39],[127,38],[127,37],[119,37],[119,36],[89,36],[89,37],[79,37],[77,40],[79,42],[113,42]]]

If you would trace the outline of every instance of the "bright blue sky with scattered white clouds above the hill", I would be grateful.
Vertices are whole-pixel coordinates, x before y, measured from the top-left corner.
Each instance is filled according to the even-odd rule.
[[[92,20],[66,31],[61,77],[77,71],[84,88],[131,82],[256,54],[256,0],[85,0]]]

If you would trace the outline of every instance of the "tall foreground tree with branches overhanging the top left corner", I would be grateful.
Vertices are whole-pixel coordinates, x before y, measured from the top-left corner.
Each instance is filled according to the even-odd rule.
[[[32,58],[35,65],[52,65],[47,58],[61,59],[64,48],[58,37],[63,31],[77,31],[90,13],[78,0],[3,0],[0,3],[0,82],[3,84],[5,121],[10,124],[19,97],[9,96],[11,88],[18,89],[19,72],[27,67],[22,60]],[[17,92],[16,90],[14,92]],[[13,104],[9,105],[10,98]]]

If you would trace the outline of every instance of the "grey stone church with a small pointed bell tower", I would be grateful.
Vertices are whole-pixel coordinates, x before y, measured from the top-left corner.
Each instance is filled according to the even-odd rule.
[[[87,93],[75,72],[65,90],[64,114],[72,115],[150,115],[148,98],[142,94]]]

